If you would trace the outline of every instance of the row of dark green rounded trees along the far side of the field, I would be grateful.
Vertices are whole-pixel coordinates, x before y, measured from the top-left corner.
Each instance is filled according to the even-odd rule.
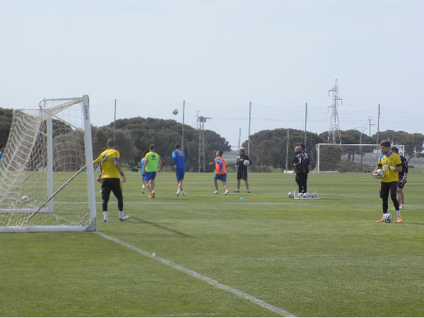
[[[0,143],[6,143],[8,131],[11,127],[13,110],[0,108]],[[61,127],[66,128],[66,127]],[[62,129],[66,133],[66,129]],[[161,155],[164,165],[172,165],[172,150],[175,143],[182,138],[182,124],[175,120],[134,117],[118,119],[116,122],[117,148],[122,155],[122,161],[135,168],[143,158],[148,146],[155,143],[156,151]],[[289,135],[289,139],[287,136]],[[98,155],[105,147],[107,139],[114,136],[114,124],[92,127],[93,154]],[[314,134],[307,131],[307,152],[312,156],[312,163],[316,160],[315,145],[327,143],[328,132]],[[423,156],[423,134],[408,134],[404,131],[382,131],[379,139],[389,139],[393,143],[405,145],[406,157]],[[250,136],[249,155],[254,162],[252,171],[269,171],[272,167],[285,169],[292,167],[291,161],[295,155],[294,146],[304,142],[305,131],[297,129],[263,130]],[[367,136],[357,130],[341,131],[342,143],[377,143],[376,134]],[[247,149],[247,141],[242,144]],[[286,151],[288,146],[288,153]],[[206,162],[213,160],[216,150],[228,152],[231,150],[228,141],[216,134],[215,131],[205,131],[205,158]],[[199,156],[199,131],[191,126],[184,126],[184,151],[187,153],[187,170],[196,171]],[[213,167],[206,166],[209,171]]]

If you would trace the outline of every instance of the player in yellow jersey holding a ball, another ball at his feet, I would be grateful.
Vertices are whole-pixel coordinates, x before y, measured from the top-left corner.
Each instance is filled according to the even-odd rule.
[[[402,222],[401,212],[399,211],[399,201],[397,199],[397,182],[399,172],[402,170],[402,162],[399,155],[390,150],[390,141],[384,140],[380,143],[382,155],[378,158],[378,165],[375,168],[384,170],[384,177],[380,183],[380,198],[383,200],[383,218],[377,222],[384,222],[384,214],[387,213],[389,208],[389,192],[391,201],[393,201],[394,208],[396,209],[396,216],[398,223]]]

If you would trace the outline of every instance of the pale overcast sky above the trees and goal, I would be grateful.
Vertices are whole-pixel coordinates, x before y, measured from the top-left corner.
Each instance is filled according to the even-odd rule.
[[[90,96],[95,126],[211,117],[237,146],[261,129],[424,133],[424,1],[0,0],[0,107]],[[179,109],[177,116],[172,109]],[[372,124],[372,125],[370,125]],[[396,125],[396,126],[394,126]]]

